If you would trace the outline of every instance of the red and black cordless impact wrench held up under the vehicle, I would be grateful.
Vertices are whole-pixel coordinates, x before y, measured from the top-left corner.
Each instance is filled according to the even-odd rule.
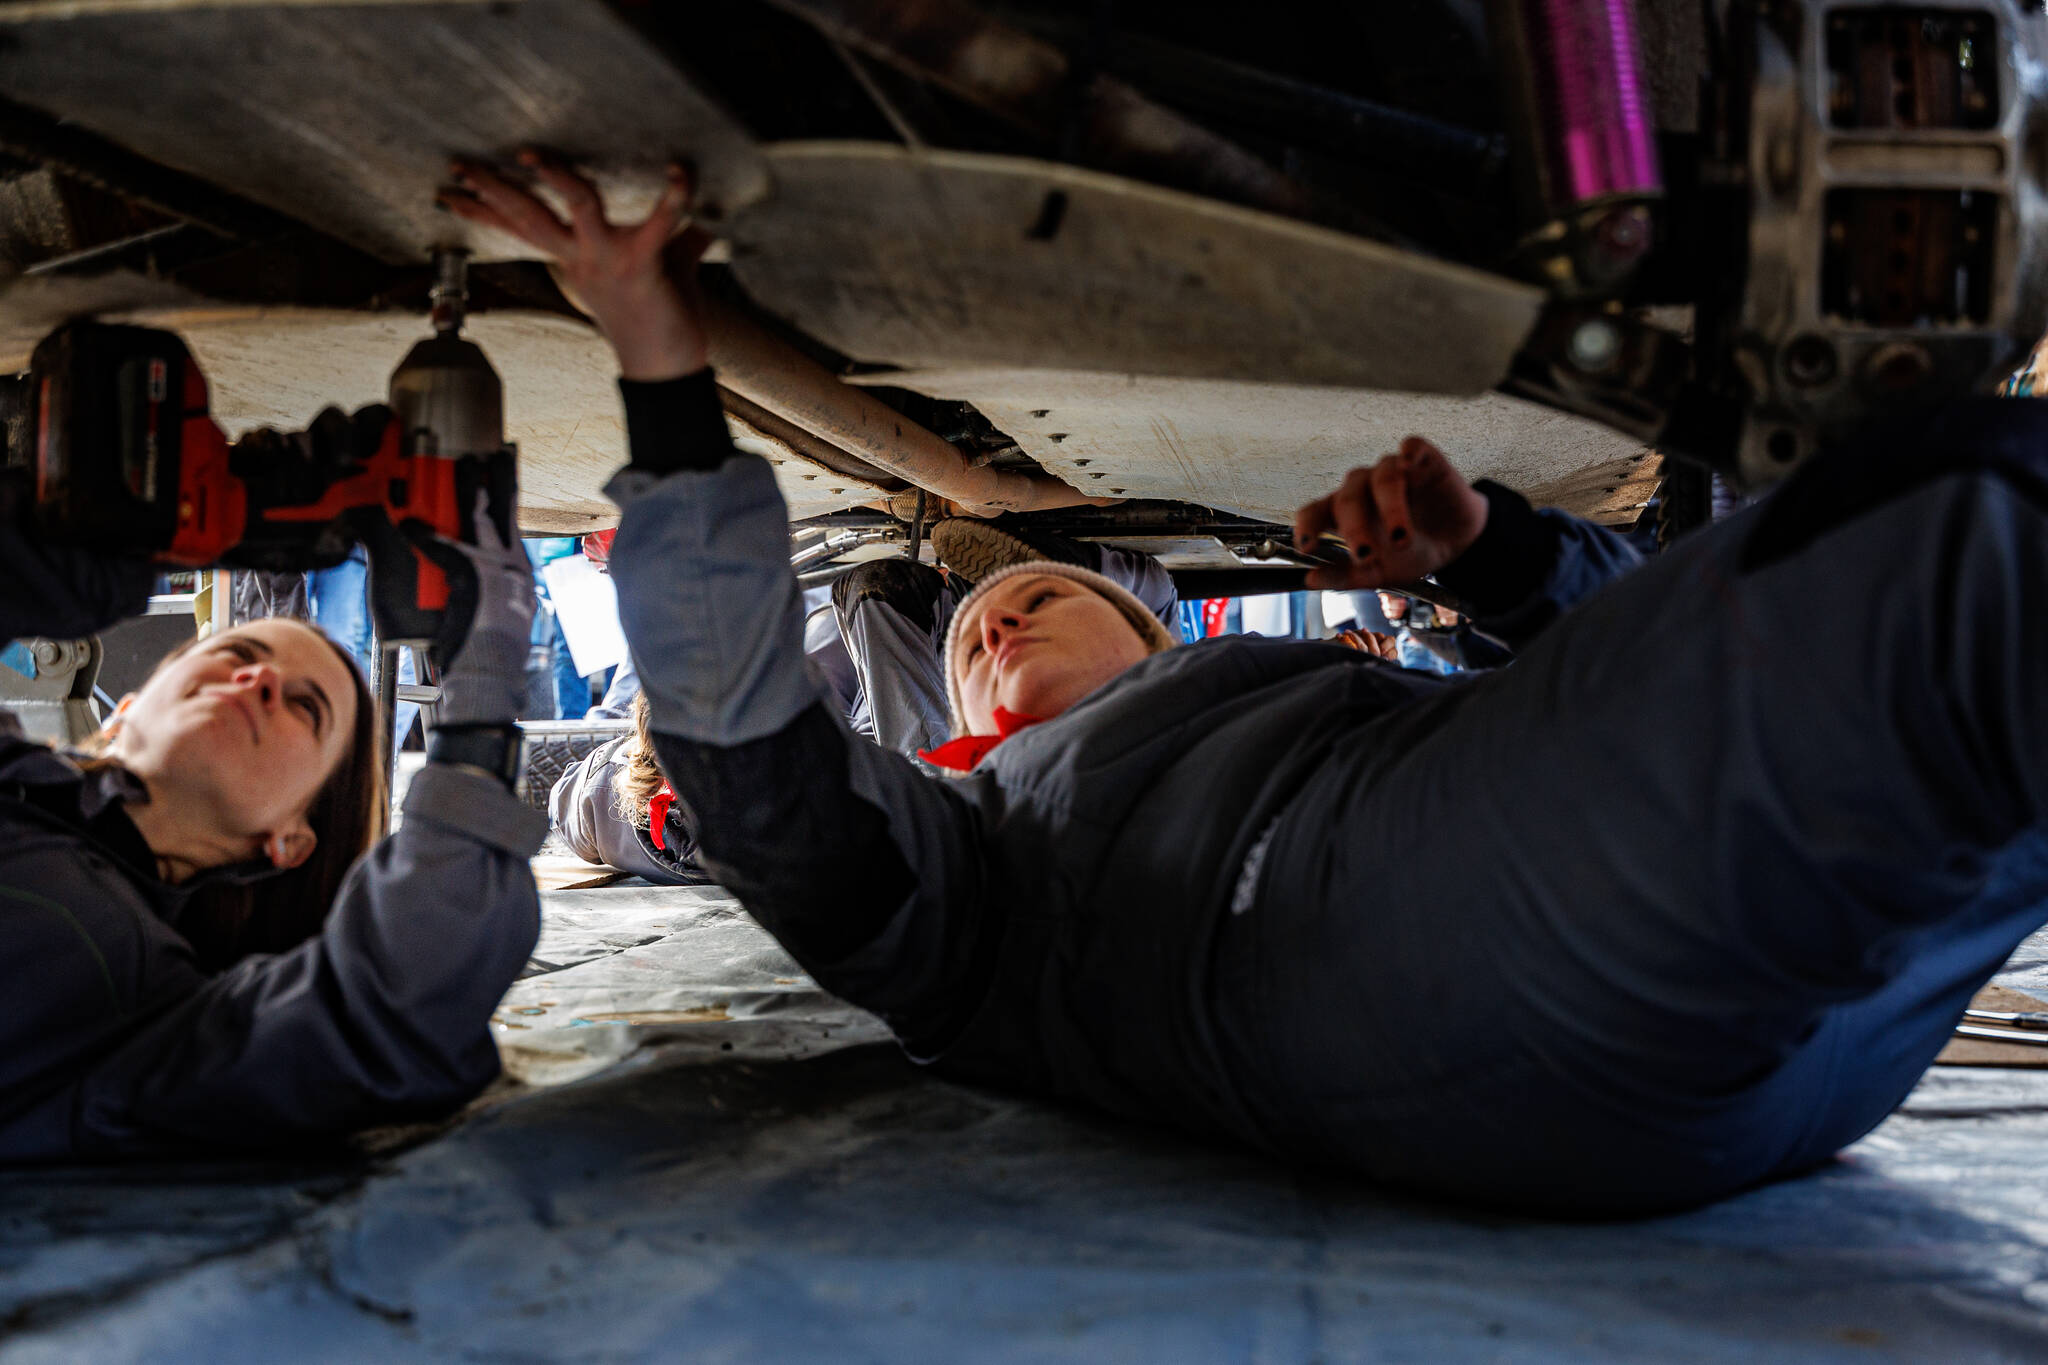
[[[229,442],[184,342],[80,321],[35,348],[8,465],[33,479],[31,516],[55,542],[272,571],[332,567],[362,542],[379,639],[446,663],[477,591],[446,540],[477,540],[479,489],[516,534],[500,393],[483,352],[440,325],[393,372],[391,405]]]

